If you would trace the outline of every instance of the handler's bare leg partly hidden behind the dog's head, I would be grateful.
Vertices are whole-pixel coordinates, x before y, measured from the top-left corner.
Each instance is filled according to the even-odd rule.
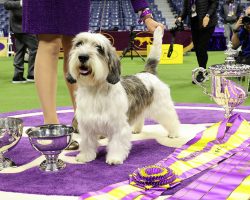
[[[66,75],[68,73],[68,69],[69,69],[69,52],[71,50],[72,47],[72,39],[73,36],[63,36],[62,37],[62,45],[63,45],[63,52],[64,52],[64,58],[63,58],[63,72],[64,72],[64,77],[66,80]],[[66,80],[66,84],[69,90],[69,94],[71,97],[71,101],[72,101],[72,105],[74,108],[74,111],[76,109],[76,104],[75,104],[75,95],[74,92],[76,90],[76,84],[71,84]]]

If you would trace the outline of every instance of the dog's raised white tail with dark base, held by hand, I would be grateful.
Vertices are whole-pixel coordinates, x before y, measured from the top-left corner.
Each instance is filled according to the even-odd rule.
[[[154,31],[154,40],[144,70],[151,74],[157,74],[157,65],[161,58],[163,30],[158,26]]]

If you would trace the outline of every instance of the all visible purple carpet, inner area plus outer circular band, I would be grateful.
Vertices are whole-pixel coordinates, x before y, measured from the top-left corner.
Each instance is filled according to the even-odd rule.
[[[192,106],[193,108],[186,109],[186,106]],[[197,107],[205,108],[196,109]],[[223,119],[223,110],[209,110],[209,108],[219,107],[215,104],[176,104],[177,113],[183,124],[214,123]],[[63,107],[58,110],[65,109],[68,110],[72,108]],[[250,107],[241,106],[238,107],[238,109],[250,110]],[[0,117],[36,112],[41,112],[41,110],[2,113],[0,114]],[[244,112],[240,114],[250,121],[249,114]],[[23,119],[25,126],[43,124],[41,114],[21,118]],[[64,124],[71,124],[72,118],[73,112],[59,114],[60,122]],[[153,123],[155,122],[149,119],[145,122],[145,124]],[[166,158],[173,151],[173,148],[162,146],[154,140],[135,142],[133,143],[133,148],[129,158],[123,165],[109,166],[105,163],[105,149],[101,147],[95,161],[88,164],[67,164],[67,167],[58,173],[45,173],[40,171],[38,167],[31,168],[18,174],[0,173],[0,191],[47,195],[82,195],[83,193],[100,190],[107,185],[127,180],[128,174],[133,172],[136,168],[155,164],[161,159]],[[32,148],[27,138],[22,138],[14,149],[5,154],[5,156],[16,162],[18,166],[31,162],[39,155],[40,153]],[[175,188],[166,191],[164,194],[175,193],[203,173],[205,172],[185,180]]]

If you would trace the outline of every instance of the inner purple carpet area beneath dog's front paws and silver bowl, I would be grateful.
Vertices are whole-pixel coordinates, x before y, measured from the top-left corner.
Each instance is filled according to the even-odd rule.
[[[87,164],[68,164],[57,173],[45,173],[38,167],[17,174],[0,174],[0,191],[47,195],[81,195],[128,179],[128,174],[138,167],[155,164],[167,157],[174,148],[165,147],[155,140],[133,143],[128,159],[123,165],[105,163],[105,148],[101,147],[97,159]],[[18,165],[26,164],[40,155],[28,139],[8,153]],[[7,154],[6,154],[7,156]],[[4,180],[4,181],[3,181]]]

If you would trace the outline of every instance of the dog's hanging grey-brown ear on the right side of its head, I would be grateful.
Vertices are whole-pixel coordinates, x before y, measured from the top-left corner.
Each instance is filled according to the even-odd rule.
[[[113,47],[108,52],[108,65],[109,74],[106,80],[110,84],[116,84],[120,81],[121,63]]]

